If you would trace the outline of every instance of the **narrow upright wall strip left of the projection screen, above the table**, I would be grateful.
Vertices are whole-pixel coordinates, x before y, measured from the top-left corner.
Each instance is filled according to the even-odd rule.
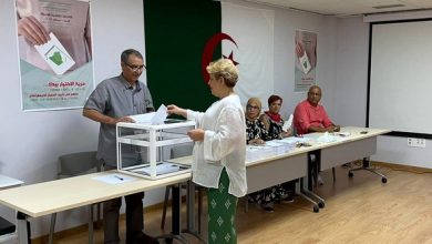
[[[338,20],[335,122],[366,126],[369,24],[359,18]]]

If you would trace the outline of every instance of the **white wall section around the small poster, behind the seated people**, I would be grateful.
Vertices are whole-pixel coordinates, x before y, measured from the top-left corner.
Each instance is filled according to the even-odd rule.
[[[337,19],[239,0],[227,1],[247,7],[275,10],[274,93],[284,99],[280,113],[286,119],[294,112],[297,103],[306,99],[306,92],[294,92],[296,30],[317,33],[317,81],[323,90],[322,103],[332,116],[335,114]],[[267,108],[267,100],[261,102],[263,106]]]

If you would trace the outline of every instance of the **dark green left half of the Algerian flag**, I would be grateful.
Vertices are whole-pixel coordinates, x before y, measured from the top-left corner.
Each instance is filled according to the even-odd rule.
[[[145,0],[144,20],[147,84],[155,108],[175,103],[205,111],[217,98],[203,79],[202,57],[207,41],[220,32],[220,2]],[[222,57],[220,44],[212,51],[212,60]]]

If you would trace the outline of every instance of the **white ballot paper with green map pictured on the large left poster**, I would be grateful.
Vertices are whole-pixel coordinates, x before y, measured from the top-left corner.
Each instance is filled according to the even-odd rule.
[[[34,45],[42,59],[50,65],[55,74],[61,75],[66,72],[75,61],[64,49],[59,39],[51,32],[51,40],[41,45]]]

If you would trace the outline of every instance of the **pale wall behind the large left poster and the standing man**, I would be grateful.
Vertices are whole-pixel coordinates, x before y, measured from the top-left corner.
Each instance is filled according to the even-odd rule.
[[[27,184],[54,180],[59,155],[96,150],[99,124],[83,118],[81,110],[21,111],[14,1],[2,0],[0,4],[0,173]],[[94,73],[100,82],[120,74],[120,54],[124,49],[135,48],[144,53],[143,1],[92,1],[91,14]],[[162,190],[146,193],[144,204],[160,202],[162,194]],[[84,210],[60,213],[56,230],[85,223],[85,214]],[[3,206],[0,215],[14,220],[14,213]],[[32,237],[48,233],[49,217],[31,223]]]

